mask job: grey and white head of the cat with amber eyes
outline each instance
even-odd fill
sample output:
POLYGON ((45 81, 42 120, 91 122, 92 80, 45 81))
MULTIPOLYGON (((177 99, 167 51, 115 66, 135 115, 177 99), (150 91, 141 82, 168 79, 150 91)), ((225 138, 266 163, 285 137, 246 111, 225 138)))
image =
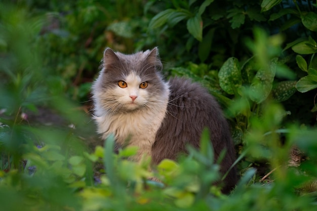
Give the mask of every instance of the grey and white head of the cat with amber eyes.
POLYGON ((131 55, 107 48, 102 70, 93 85, 97 110, 127 112, 151 108, 164 100, 168 86, 161 69, 157 48, 131 55))

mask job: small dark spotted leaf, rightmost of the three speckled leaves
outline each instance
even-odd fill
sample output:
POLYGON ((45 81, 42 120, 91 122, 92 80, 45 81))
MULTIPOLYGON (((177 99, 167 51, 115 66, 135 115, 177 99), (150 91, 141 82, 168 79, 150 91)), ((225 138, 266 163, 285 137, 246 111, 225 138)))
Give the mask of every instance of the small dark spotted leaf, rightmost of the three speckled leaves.
POLYGON ((272 89, 273 99, 277 102, 283 102, 289 99, 297 90, 295 88, 297 81, 281 81, 274 85, 272 89))

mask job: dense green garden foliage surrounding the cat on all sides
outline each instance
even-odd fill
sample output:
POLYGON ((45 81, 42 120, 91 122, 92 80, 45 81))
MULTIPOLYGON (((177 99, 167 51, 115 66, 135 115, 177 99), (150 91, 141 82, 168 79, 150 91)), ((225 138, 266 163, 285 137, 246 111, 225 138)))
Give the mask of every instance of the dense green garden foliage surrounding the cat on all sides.
POLYGON ((316 12, 309 0, 2 1, 0 210, 316 209, 316 12), (155 171, 95 134, 103 50, 155 46, 167 77, 222 105, 241 176, 231 194, 212 185, 207 132, 155 171))

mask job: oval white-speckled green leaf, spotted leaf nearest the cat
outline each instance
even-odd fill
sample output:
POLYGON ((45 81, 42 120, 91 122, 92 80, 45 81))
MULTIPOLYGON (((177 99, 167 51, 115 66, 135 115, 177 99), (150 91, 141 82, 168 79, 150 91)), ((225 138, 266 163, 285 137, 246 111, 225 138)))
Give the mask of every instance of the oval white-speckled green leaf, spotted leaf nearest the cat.
POLYGON ((218 77, 221 89, 230 95, 235 94, 242 85, 239 61, 234 57, 227 59, 220 68, 218 77))

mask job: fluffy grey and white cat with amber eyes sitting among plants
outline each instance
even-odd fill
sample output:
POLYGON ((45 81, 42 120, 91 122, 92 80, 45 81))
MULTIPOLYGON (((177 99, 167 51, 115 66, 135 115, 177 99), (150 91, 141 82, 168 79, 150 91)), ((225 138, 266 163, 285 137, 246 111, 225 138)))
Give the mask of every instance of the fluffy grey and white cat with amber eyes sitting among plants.
MULTIPOLYGON (((94 120, 97 132, 116 145, 137 146, 134 157, 150 155, 157 164, 165 158, 177 159, 190 144, 199 148, 203 129, 210 130, 215 159, 225 149, 220 163, 225 173, 235 160, 229 126, 219 104, 208 91, 189 79, 166 81, 157 48, 125 55, 110 48, 104 51, 101 71, 93 82, 94 120)), ((233 167, 223 192, 236 183, 233 167)))

